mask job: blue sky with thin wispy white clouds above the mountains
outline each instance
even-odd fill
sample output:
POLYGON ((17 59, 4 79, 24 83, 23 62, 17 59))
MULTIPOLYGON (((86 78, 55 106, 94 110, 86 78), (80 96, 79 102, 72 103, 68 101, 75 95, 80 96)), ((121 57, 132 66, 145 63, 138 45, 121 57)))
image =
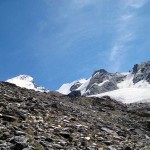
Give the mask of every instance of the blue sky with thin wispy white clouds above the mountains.
POLYGON ((0 80, 55 90, 150 60, 149 0, 0 0, 0 80))

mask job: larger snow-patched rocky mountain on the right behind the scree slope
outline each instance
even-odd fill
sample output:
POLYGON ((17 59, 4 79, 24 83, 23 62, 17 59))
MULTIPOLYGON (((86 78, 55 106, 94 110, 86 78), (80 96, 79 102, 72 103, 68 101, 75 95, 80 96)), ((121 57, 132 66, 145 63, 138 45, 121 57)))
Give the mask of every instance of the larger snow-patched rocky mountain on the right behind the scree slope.
POLYGON ((108 95, 125 103, 142 100, 150 102, 150 61, 134 65, 132 71, 127 73, 97 70, 91 78, 84 79, 84 82, 77 80, 62 85, 58 92, 69 94, 74 90, 81 91, 81 94, 85 96, 108 95))

